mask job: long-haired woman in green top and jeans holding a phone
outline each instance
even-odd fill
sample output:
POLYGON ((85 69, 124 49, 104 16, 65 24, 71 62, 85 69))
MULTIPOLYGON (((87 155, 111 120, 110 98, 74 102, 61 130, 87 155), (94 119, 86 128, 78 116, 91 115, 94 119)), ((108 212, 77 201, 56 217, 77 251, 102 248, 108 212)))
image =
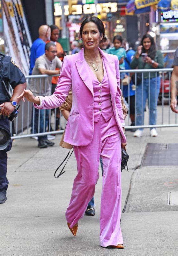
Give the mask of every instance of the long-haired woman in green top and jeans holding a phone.
MULTIPOLYGON (((154 39, 149 34, 143 36, 140 45, 137 48, 132 62, 131 69, 157 69, 163 68, 164 61, 162 53, 156 49, 154 39)), ((157 102, 160 90, 160 77, 158 72, 144 72, 142 81, 137 84, 137 101, 136 101, 136 125, 144 125, 144 111, 146 100, 149 102, 149 124, 155 125, 157 118, 157 102), (149 88, 150 85, 150 88, 149 88)), ((151 128, 150 136, 156 137, 158 135, 155 128, 151 128)), ((134 132, 134 137, 143 136, 143 128, 137 129, 134 132)))

